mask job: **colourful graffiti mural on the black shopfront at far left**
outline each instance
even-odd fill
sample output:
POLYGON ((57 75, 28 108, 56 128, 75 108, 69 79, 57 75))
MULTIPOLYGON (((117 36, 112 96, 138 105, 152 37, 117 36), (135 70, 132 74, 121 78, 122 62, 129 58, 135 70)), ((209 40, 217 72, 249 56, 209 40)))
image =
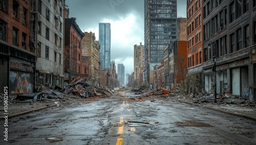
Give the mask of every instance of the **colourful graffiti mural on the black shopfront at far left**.
POLYGON ((33 74, 29 72, 10 70, 10 92, 33 92, 33 74))

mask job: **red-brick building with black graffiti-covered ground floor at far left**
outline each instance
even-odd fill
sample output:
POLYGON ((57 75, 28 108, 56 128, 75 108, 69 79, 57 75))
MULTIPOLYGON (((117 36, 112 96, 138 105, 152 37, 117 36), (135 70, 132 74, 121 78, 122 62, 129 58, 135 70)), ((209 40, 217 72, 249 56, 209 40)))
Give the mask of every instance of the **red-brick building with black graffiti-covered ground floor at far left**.
POLYGON ((0 93, 31 93, 35 88, 36 54, 30 37, 30 1, 1 1, 0 93))

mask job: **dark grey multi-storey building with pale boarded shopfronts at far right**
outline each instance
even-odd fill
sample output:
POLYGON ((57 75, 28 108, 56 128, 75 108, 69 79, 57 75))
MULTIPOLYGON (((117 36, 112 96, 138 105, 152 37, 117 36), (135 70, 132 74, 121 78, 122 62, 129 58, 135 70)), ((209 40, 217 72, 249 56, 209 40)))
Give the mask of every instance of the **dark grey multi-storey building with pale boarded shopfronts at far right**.
POLYGON ((255 99, 255 3, 238 0, 203 2, 203 73, 206 92, 211 92, 216 84, 217 94, 228 92, 244 99, 255 99))

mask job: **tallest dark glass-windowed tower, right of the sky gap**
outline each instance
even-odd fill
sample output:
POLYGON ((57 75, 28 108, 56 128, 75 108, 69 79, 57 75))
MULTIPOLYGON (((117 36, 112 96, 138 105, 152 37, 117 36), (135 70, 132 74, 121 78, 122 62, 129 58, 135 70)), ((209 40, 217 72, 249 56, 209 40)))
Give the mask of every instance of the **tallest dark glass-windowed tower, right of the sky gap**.
POLYGON ((153 69, 163 59, 164 46, 176 39, 177 0, 144 0, 144 81, 153 84, 153 69))

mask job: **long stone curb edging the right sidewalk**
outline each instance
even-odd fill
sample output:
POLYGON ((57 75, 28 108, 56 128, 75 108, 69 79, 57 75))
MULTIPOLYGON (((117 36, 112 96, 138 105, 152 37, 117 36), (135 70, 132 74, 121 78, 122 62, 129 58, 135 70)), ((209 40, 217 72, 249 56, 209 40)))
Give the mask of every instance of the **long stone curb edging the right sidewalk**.
POLYGON ((208 109, 212 109, 212 110, 215 110, 215 111, 223 112, 223 113, 226 113, 226 114, 230 114, 230 115, 234 115, 234 116, 239 116, 239 117, 244 117, 246 119, 250 119, 250 120, 256 121, 255 117, 251 117, 251 116, 247 116, 247 115, 242 115, 242 114, 237 114, 237 113, 232 113, 232 112, 228 112, 228 111, 224 111, 224 110, 216 109, 216 108, 212 108, 212 107, 202 106, 202 105, 199 105, 199 104, 195 104, 195 103, 191 103, 191 102, 186 102, 186 101, 181 101, 181 100, 178 100, 178 99, 174 99, 174 100, 182 102, 182 103, 186 103, 186 104, 190 104, 190 105, 196 105, 196 106, 199 106, 199 107, 208 108, 208 109))

